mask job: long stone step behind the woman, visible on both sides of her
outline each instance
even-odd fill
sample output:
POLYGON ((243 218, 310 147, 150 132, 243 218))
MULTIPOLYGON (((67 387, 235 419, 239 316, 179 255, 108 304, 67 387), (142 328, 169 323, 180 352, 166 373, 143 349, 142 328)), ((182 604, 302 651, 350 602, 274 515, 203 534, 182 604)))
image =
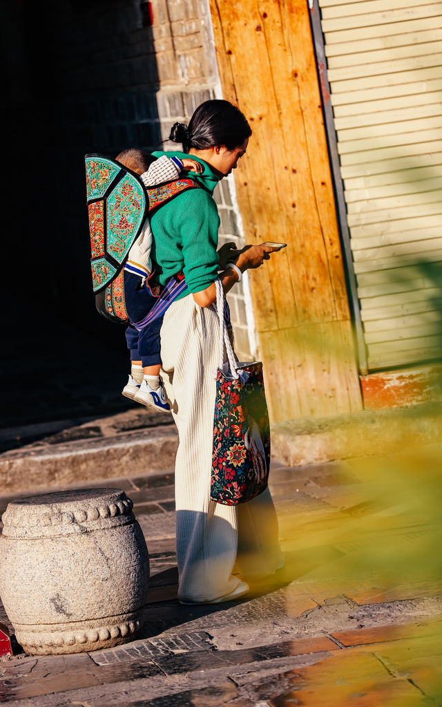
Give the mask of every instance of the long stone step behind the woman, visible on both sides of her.
MULTIPOLYGON (((442 404, 362 411, 272 426, 272 457, 289 467, 400 452, 442 441, 442 404)), ((167 414, 129 410, 0 454, 1 493, 158 474, 174 467, 167 414)))

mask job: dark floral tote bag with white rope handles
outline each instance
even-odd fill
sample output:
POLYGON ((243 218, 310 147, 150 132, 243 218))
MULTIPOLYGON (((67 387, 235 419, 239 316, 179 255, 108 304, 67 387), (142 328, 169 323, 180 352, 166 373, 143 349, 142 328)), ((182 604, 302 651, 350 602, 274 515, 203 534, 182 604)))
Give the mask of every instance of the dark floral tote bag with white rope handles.
POLYGON ((220 320, 220 366, 217 369, 213 419, 210 497, 234 506, 262 493, 268 484, 270 425, 261 362, 239 363, 224 317, 224 293, 216 281, 220 320), (228 363, 224 361, 227 351, 228 363))

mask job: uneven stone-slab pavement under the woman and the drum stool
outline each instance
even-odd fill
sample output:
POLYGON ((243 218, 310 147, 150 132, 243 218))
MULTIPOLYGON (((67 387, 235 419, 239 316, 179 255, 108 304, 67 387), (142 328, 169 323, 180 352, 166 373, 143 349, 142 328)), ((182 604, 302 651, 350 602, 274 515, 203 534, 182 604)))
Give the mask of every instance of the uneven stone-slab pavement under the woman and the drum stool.
MULTIPOLYGON (((419 451, 427 481, 440 479, 440 451, 419 451)), ((177 602, 173 472, 78 484, 119 486, 134 502, 151 559, 145 627, 132 643, 91 653, 33 657, 18 648, 0 662, 0 702, 440 706, 441 489, 429 482, 434 512, 425 493, 425 512, 410 501, 412 481, 411 494, 397 489, 395 474, 407 479, 411 470, 412 479, 413 461, 407 452, 297 468, 274 462, 285 568, 250 597, 217 606, 177 602), (386 484, 379 494, 372 472, 375 481, 389 472, 395 493, 386 484)))

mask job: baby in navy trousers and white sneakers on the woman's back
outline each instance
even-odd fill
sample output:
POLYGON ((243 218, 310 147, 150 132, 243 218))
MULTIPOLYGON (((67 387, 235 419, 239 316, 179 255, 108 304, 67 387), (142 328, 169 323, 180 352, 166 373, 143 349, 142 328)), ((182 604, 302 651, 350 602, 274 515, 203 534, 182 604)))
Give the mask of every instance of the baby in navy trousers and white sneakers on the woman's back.
MULTIPOLYGON (((145 187, 176 180, 182 170, 200 173, 203 165, 196 160, 179 160, 162 156, 155 160, 149 153, 135 148, 117 155, 117 161, 141 175, 145 187)), ((124 296, 126 310, 131 322, 139 322, 153 308, 158 297, 153 295, 149 279, 153 275, 150 261, 152 231, 149 219, 145 218, 140 235, 129 250, 124 266, 124 296)), ((155 293, 157 295, 157 293, 155 293)), ((160 380, 160 329, 162 317, 138 332, 129 324, 126 341, 131 352, 131 373, 123 388, 123 395, 156 410, 167 411, 169 404, 160 380)))

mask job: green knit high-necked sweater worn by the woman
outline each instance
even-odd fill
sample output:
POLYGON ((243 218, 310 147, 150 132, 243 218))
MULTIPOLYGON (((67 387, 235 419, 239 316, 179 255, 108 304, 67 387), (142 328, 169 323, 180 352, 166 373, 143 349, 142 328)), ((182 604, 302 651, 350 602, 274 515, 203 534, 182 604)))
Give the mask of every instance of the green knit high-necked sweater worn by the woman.
MULTIPOLYGON (((162 155, 189 158, 184 152, 153 153, 154 157, 162 155)), ((201 162, 204 170, 200 175, 189 172, 187 176, 200 182, 210 193, 205 189, 182 192, 158 209, 150 219, 155 262, 153 279, 165 285, 169 277, 182 270, 189 289, 178 299, 212 284, 217 278, 219 264, 216 251, 220 217, 212 192, 220 177, 203 160, 194 156, 191 158, 201 162)))

